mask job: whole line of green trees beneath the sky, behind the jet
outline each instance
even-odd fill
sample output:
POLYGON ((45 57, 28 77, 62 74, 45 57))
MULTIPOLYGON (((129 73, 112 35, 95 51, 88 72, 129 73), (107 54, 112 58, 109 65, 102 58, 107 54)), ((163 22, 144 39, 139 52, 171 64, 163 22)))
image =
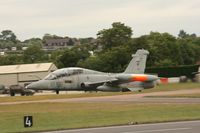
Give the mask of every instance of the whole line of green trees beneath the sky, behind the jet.
POLYGON ((180 30, 178 36, 169 33, 150 32, 140 37, 132 37, 131 27, 121 22, 114 22, 111 28, 98 31, 97 38, 80 39, 81 44, 72 49, 42 50, 42 39, 32 38, 21 42, 12 31, 2 31, 0 47, 5 44, 22 47, 28 46, 22 54, 9 54, 0 57, 0 65, 54 62, 58 68, 84 67, 105 72, 122 72, 131 55, 137 49, 147 49, 150 52, 148 67, 193 65, 200 61, 200 37, 180 30), (92 55, 91 55, 92 51, 92 55))

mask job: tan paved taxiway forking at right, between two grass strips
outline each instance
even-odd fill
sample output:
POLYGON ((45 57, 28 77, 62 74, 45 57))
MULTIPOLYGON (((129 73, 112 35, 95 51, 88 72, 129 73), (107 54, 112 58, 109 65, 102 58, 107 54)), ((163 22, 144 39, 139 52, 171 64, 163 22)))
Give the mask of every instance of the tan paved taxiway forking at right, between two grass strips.
POLYGON ((195 94, 200 93, 200 89, 192 90, 176 90, 166 92, 151 92, 141 94, 124 94, 115 96, 101 96, 101 97, 83 97, 83 98, 64 98, 64 99, 47 99, 34 101, 16 101, 16 102, 2 102, 0 105, 13 105, 24 103, 59 103, 59 102, 133 102, 133 103, 180 103, 192 104, 200 103, 200 98, 161 98, 151 96, 172 96, 174 94, 195 94), (148 96, 148 97, 147 97, 148 96))

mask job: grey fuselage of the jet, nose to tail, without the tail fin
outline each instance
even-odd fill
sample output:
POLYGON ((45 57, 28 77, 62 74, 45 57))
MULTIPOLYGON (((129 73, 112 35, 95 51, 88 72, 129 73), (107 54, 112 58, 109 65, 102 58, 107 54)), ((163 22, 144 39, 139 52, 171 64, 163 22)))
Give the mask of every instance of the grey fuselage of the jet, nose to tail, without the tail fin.
POLYGON ((134 74, 104 73, 84 68, 71 67, 58 69, 50 73, 43 80, 33 82, 27 86, 32 90, 55 91, 123 91, 128 89, 126 85, 138 88, 152 88, 153 81, 157 79, 153 75, 136 74, 135 76, 147 76, 146 81, 134 81, 134 74), (132 82, 132 83, 130 83, 132 82))

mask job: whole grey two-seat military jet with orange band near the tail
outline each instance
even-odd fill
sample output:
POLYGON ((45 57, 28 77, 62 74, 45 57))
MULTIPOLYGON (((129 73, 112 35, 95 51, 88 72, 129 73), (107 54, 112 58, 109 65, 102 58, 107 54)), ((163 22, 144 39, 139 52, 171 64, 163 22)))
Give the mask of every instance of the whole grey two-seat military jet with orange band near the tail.
POLYGON ((59 91, 134 91, 152 88, 158 79, 144 74, 149 52, 137 50, 123 73, 104 73, 79 67, 58 69, 44 79, 26 86, 32 90, 59 91))

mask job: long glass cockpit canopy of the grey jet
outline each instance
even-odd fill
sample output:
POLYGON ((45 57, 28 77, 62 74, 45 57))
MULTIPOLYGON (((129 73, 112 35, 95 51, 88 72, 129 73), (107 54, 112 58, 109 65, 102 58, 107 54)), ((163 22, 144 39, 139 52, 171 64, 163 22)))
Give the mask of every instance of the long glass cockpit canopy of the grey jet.
POLYGON ((83 73, 83 69, 81 68, 63 68, 63 69, 58 69, 49 75, 47 75, 44 79, 45 80, 54 80, 60 77, 67 77, 71 75, 76 75, 76 74, 81 74, 83 73))

